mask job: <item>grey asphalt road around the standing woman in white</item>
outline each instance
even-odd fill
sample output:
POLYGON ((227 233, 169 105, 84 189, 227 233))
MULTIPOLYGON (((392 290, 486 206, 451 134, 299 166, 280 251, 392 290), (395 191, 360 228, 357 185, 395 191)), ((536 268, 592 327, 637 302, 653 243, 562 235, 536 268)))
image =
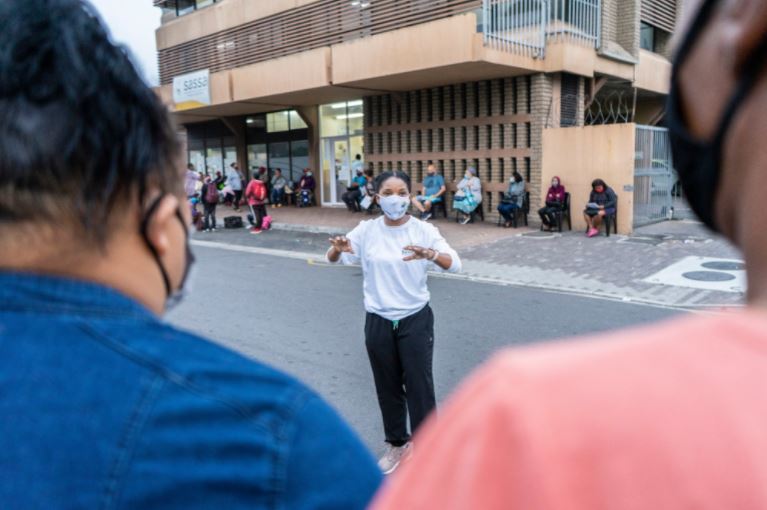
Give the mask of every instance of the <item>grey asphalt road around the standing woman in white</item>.
MULTIPOLYGON (((316 243, 313 249, 295 248, 314 252, 319 239, 316 243)), ((169 320, 295 375, 323 395, 378 453, 383 427, 364 347, 361 270, 215 248, 196 247, 195 253, 199 267, 193 293, 169 320)), ((504 347, 678 313, 443 278, 430 279, 429 286, 440 401, 504 347)))

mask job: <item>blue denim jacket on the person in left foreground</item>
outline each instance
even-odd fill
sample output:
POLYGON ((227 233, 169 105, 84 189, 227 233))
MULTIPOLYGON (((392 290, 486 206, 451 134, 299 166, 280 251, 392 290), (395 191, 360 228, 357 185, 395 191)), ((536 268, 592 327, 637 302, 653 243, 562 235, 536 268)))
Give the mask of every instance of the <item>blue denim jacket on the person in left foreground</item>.
POLYGON ((363 508, 380 481, 290 377, 108 288, 0 272, 0 507, 363 508))

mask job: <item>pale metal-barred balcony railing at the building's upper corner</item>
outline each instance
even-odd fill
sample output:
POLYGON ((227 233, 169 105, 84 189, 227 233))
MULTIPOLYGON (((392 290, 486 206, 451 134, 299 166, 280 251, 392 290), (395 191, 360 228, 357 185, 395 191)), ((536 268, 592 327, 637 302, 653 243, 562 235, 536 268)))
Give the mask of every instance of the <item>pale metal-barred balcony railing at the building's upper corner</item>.
POLYGON ((601 0, 483 0, 485 44, 536 58, 551 40, 599 48, 601 0))

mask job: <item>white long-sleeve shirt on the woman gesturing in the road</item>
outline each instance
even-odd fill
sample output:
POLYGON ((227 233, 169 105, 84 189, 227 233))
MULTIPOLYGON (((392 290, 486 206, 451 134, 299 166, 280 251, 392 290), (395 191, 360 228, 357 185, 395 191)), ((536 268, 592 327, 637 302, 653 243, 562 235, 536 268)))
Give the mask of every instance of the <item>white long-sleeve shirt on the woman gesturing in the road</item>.
POLYGON ((390 227, 381 216, 361 222, 347 236, 354 253, 343 253, 343 264, 360 264, 364 278, 365 310, 390 321, 402 320, 421 311, 431 299, 426 285, 429 270, 443 271, 434 262, 405 262, 406 246, 420 246, 450 255, 450 273, 461 270, 461 259, 430 223, 410 218, 390 227))

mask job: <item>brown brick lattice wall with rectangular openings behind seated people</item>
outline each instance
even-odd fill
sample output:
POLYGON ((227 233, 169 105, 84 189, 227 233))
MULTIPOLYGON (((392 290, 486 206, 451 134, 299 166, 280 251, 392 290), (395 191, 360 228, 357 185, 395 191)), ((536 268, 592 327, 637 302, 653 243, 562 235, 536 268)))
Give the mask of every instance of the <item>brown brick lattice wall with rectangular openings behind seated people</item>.
POLYGON ((365 159, 376 174, 409 173, 415 190, 434 163, 448 183, 448 204, 454 181, 474 166, 485 213, 494 219, 514 170, 529 179, 531 202, 538 203, 542 130, 550 103, 551 79, 543 74, 368 97, 365 159))

